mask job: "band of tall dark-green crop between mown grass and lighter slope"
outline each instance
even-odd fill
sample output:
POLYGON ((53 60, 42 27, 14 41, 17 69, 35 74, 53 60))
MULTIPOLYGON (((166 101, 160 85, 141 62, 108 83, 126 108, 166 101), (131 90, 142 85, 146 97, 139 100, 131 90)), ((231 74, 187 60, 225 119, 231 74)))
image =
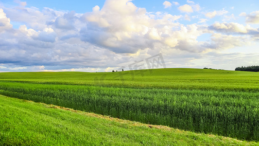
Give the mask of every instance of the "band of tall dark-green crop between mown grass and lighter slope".
POLYGON ((0 82, 0 94, 196 132, 259 141, 259 93, 0 82))

